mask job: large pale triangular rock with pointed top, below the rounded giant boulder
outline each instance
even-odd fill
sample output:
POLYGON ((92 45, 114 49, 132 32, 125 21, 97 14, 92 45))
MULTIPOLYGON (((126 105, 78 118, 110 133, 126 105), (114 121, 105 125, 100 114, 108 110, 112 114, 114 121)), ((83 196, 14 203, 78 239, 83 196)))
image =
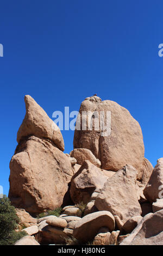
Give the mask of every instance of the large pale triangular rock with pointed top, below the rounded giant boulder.
MULTIPOLYGON (((141 215, 135 182, 136 170, 127 164, 105 182, 102 192, 95 200, 95 206, 99 211, 110 211, 112 215, 118 216, 122 225, 129 218, 141 215)), ((121 229, 121 224, 118 229, 121 229)))

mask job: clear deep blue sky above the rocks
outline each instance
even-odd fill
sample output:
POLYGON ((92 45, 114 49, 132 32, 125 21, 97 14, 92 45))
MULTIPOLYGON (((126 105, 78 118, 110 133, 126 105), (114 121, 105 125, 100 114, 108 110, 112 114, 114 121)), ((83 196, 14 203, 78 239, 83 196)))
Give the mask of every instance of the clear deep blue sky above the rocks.
MULTIPOLYGON (((163 2, 151 0, 1 1, 1 178, 9 190, 9 161, 29 94, 49 117, 79 110, 97 93, 139 121, 145 156, 163 156, 163 2)), ((65 153, 73 131, 63 131, 65 153)))

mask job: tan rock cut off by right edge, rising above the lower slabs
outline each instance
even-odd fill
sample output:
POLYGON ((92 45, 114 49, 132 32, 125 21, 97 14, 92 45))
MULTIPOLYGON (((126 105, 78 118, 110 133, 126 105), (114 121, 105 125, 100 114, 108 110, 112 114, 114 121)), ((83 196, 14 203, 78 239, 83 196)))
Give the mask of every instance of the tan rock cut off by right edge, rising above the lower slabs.
POLYGON ((163 198, 163 157, 158 160, 154 167, 143 193, 151 203, 156 202, 156 199, 163 198))

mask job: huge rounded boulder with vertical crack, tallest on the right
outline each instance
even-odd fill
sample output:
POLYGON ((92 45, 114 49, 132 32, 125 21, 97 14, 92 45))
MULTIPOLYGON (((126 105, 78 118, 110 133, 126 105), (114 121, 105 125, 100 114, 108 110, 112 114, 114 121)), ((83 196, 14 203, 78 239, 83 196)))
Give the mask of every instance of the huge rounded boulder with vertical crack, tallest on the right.
POLYGON ((137 178, 142 179, 145 149, 141 127, 126 108, 114 101, 101 101, 99 97, 92 96, 82 102, 73 145, 74 149, 90 149, 101 161, 103 169, 117 171, 128 163, 137 169, 137 178), (101 127, 100 116, 101 120, 105 119, 101 127), (82 120, 86 129, 82 127, 82 120), (92 130, 88 126, 89 120, 92 122, 92 130))

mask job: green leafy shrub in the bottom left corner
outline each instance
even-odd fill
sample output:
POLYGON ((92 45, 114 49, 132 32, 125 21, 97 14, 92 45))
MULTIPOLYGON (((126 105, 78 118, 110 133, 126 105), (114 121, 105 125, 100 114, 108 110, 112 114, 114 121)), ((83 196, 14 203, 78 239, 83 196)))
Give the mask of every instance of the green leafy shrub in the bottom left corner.
POLYGON ((9 198, 0 198, 0 245, 14 245, 18 239, 27 235, 25 231, 15 231, 19 221, 9 198))

